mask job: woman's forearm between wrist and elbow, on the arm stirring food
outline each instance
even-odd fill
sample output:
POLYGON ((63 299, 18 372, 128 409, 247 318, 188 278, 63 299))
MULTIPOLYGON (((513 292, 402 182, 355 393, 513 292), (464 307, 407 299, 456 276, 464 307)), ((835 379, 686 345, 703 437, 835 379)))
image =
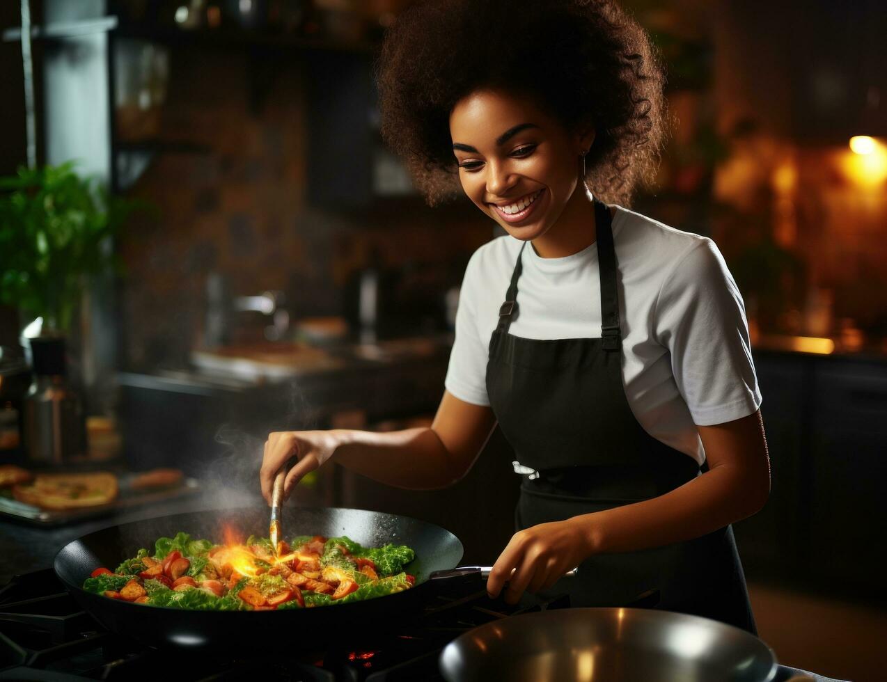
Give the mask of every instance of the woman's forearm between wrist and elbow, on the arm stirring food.
POLYGON ((336 429, 331 435, 337 443, 335 462, 398 488, 445 488, 465 473, 428 427, 387 433, 336 429))

